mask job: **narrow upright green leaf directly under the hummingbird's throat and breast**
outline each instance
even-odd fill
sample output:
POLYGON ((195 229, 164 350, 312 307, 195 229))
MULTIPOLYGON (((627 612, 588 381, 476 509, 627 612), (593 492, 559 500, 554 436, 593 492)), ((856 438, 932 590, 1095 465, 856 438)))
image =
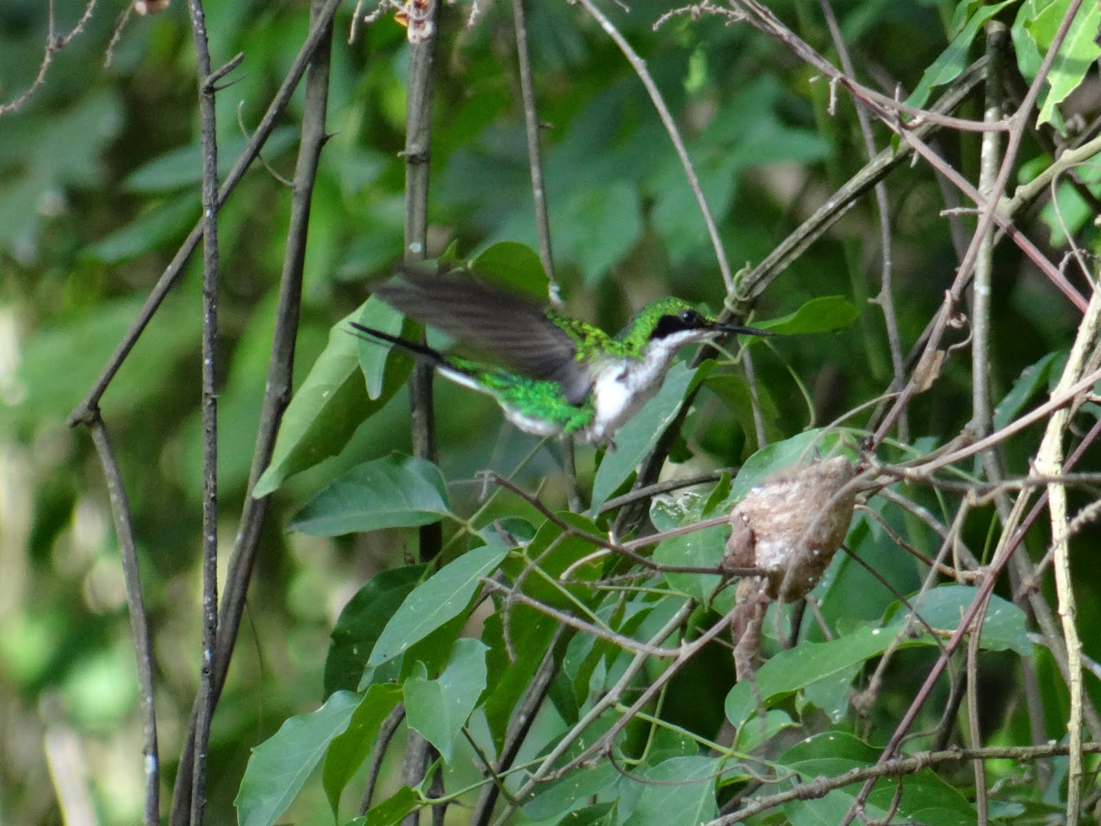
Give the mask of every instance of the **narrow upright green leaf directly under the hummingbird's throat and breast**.
MULTIPOLYGON (((592 509, 596 511, 626 479, 657 444, 662 433, 676 416, 695 372, 676 363, 665 377, 657 395, 615 435, 615 449, 604 454, 592 482, 592 509)), ((702 378, 702 377, 700 377, 702 378)))

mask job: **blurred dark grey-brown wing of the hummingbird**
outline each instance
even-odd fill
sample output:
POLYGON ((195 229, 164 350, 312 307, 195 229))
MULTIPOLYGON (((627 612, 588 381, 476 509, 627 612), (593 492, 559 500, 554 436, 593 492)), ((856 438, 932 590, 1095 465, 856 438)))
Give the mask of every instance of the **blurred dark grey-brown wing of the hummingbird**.
POLYGON ((395 309, 532 379, 557 381, 571 404, 592 387, 577 347, 543 307, 469 278, 404 269, 374 290, 395 309))

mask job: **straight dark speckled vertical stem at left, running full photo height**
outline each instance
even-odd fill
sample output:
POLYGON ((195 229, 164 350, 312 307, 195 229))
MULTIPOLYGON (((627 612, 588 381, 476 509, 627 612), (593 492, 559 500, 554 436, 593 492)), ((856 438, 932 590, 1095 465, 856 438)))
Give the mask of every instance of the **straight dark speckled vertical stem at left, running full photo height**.
POLYGON ((215 393, 215 344, 218 337, 218 135, 215 91, 210 84, 203 0, 189 0, 192 36, 198 74, 199 137, 203 152, 203 665, 196 698, 195 756, 192 768, 192 826, 203 822, 206 760, 214 688, 214 651, 218 637, 218 398, 215 393))

